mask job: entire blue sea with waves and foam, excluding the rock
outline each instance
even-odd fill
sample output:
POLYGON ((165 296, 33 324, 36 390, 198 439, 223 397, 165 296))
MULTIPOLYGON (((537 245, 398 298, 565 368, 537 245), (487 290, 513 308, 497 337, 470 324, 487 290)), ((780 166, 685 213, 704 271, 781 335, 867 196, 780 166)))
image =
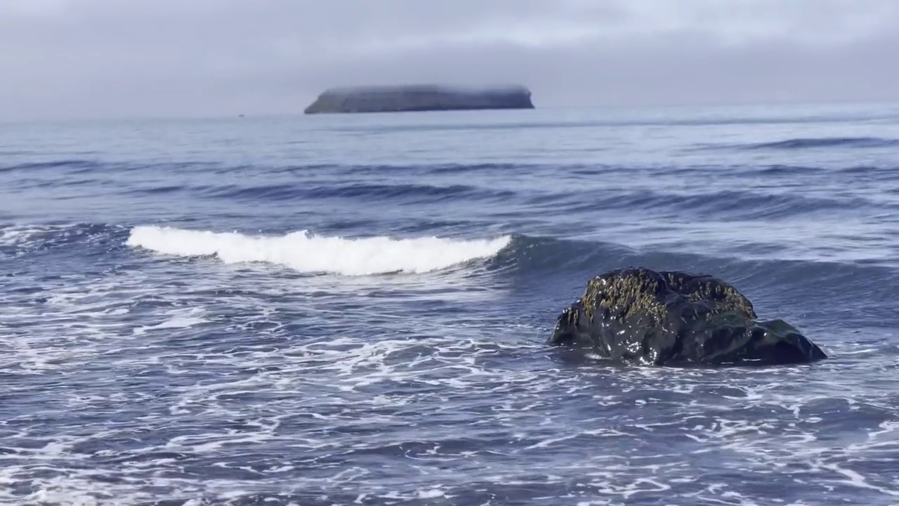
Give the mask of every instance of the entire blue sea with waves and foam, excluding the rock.
POLYGON ((9 123, 0 195, 0 501, 899 502, 899 106, 9 123), (830 358, 544 346, 636 265, 830 358))

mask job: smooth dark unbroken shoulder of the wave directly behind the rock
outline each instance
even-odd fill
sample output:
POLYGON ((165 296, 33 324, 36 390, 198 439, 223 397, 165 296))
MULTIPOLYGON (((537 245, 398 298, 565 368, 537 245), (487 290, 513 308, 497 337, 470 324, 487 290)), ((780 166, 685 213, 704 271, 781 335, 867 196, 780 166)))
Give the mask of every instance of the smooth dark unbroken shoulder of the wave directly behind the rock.
MULTIPOLYGON (((839 317, 877 327, 893 318, 899 267, 789 258, 740 258, 677 250, 628 248, 600 241, 514 236, 488 264, 515 285, 552 287, 573 299, 592 276, 621 267, 650 267, 718 276, 769 311, 839 317), (809 301, 816 301, 809 305, 809 301)), ((530 288, 529 288, 530 289, 530 288)))

